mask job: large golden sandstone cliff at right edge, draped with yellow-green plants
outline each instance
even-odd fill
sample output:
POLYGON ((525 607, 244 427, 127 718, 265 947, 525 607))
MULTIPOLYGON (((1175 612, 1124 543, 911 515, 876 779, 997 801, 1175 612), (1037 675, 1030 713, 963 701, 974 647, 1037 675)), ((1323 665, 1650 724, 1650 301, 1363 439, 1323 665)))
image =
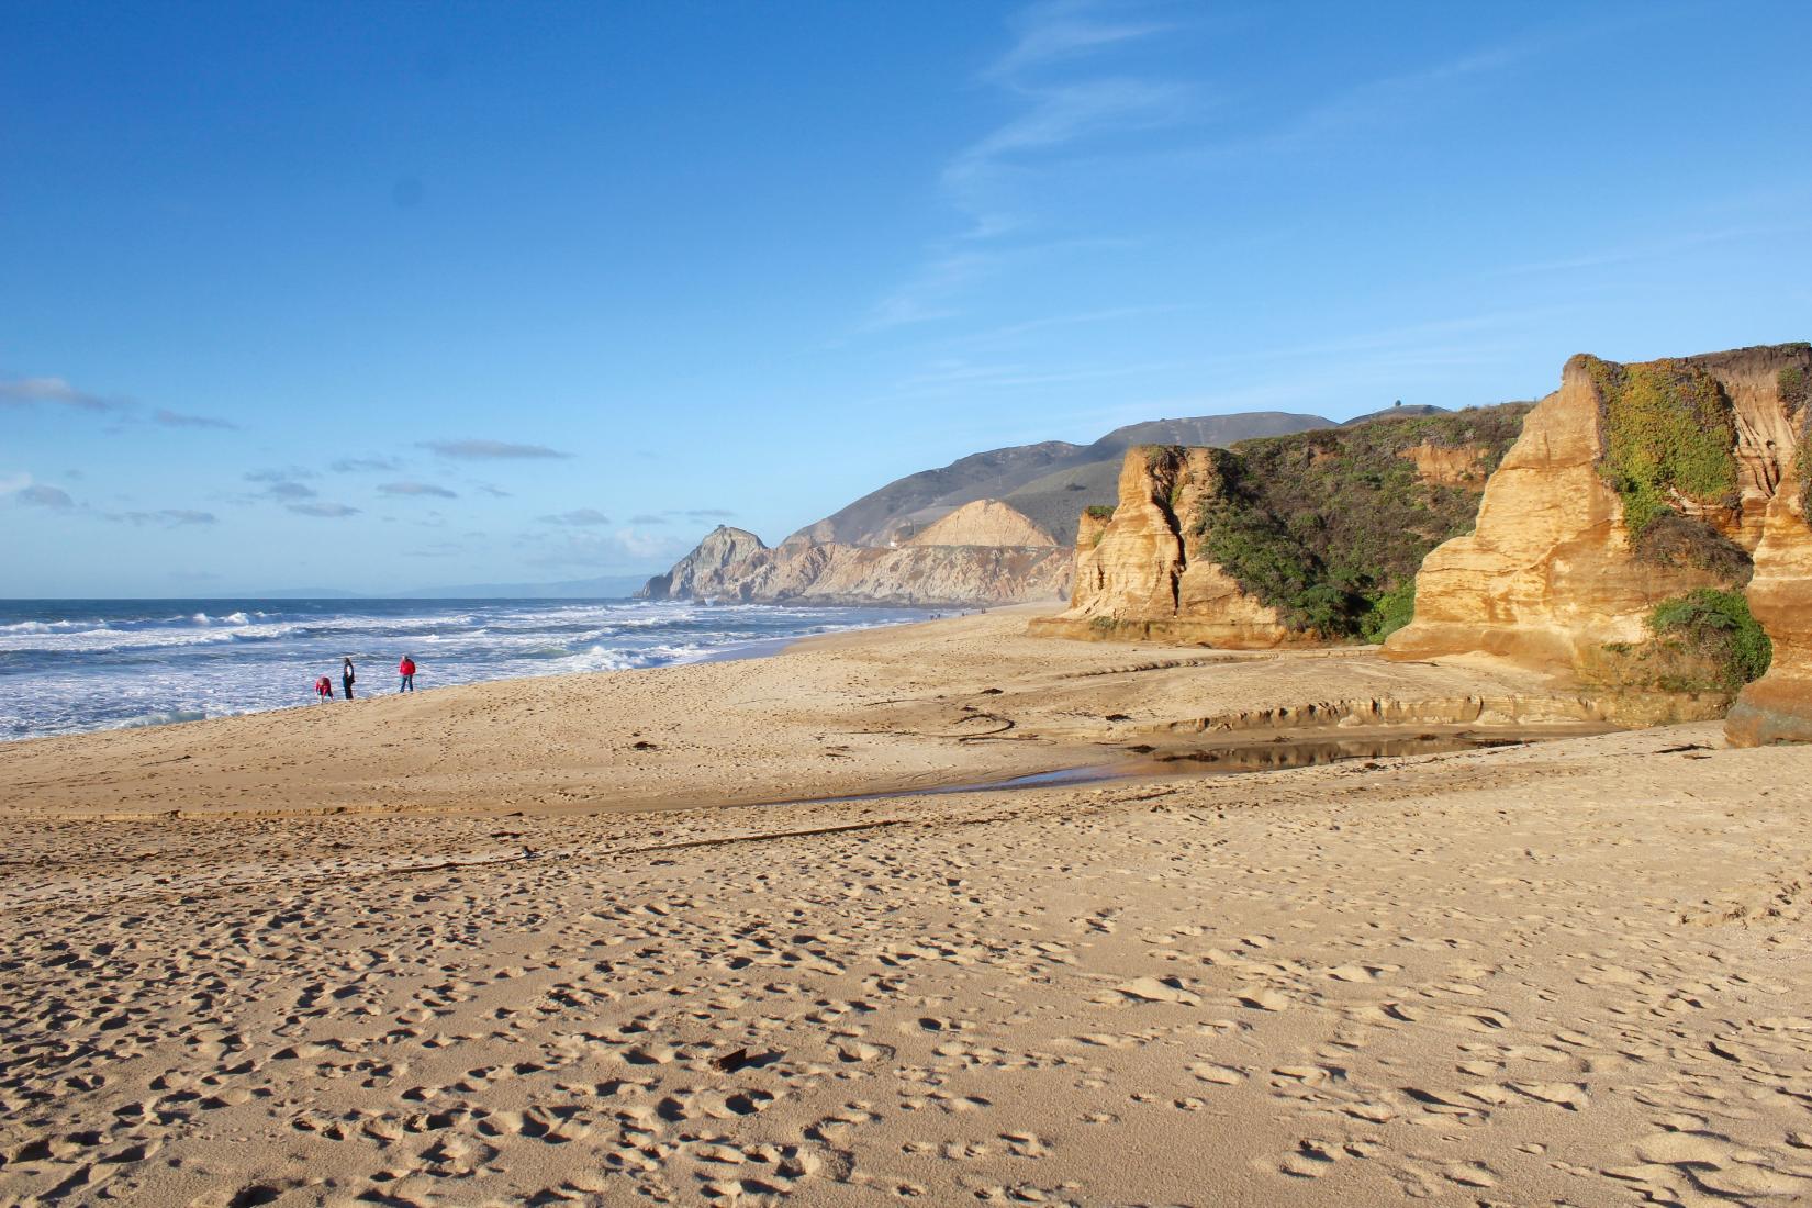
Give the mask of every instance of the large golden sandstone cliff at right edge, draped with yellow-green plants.
MULTIPOLYGON (((1805 344, 1569 360, 1491 475, 1475 531, 1424 560, 1415 619, 1386 652, 1482 652, 1589 679, 1607 652, 1651 638, 1656 605, 1741 589, 1770 525, 1783 536, 1769 578, 1783 587, 1763 594, 1792 594, 1799 542, 1770 513, 1796 433, 1781 373, 1807 360, 1805 344)), ((1763 625, 1772 636, 1781 621, 1763 625)))

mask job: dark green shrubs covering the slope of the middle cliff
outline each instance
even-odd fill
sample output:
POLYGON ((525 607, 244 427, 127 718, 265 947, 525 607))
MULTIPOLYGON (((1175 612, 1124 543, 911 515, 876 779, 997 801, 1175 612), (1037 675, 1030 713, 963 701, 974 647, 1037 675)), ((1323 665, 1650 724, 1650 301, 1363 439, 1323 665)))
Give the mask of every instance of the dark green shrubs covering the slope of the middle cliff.
POLYGON ((1294 628, 1379 641, 1408 623, 1428 551, 1471 531, 1484 480, 1529 406, 1381 418, 1216 449, 1219 489, 1189 518, 1194 552, 1294 628), (1446 462, 1446 473, 1424 473, 1419 449, 1446 462))

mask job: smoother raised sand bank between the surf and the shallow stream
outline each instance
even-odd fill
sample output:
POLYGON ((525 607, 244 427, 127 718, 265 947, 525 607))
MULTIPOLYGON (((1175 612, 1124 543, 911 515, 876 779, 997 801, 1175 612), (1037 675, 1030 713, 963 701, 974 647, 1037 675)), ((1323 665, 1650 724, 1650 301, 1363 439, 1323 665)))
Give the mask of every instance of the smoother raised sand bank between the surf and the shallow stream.
POLYGON ((1216 728, 1316 737, 1368 724, 1566 724, 1582 708, 1528 674, 1397 666, 1364 648, 1026 636, 1026 621, 1051 610, 1015 605, 815 634, 750 657, 386 694, 352 710, 24 739, 0 744, 0 819, 841 801, 1136 762, 1200 746, 1216 728), (1330 701, 1343 697, 1379 715, 1335 717, 1330 701))

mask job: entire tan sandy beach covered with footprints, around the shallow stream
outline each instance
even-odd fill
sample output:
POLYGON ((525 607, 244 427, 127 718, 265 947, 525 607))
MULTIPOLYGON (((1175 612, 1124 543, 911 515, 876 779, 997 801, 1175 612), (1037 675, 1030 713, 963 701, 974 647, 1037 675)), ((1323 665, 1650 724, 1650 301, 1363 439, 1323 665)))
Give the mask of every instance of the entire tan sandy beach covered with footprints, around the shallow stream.
POLYGON ((0 746, 0 1201, 1812 1199, 1812 750, 1026 621, 0 746))

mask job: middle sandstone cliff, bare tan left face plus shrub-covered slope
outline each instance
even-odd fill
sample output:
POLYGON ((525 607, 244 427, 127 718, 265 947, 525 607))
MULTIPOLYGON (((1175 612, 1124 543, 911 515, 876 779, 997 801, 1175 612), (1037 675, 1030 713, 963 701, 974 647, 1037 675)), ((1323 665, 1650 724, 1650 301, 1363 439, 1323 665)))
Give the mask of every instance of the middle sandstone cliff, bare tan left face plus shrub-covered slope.
POLYGON ((1526 411, 1132 449, 1113 513, 1082 516, 1069 610, 1033 632, 1232 648, 1375 634, 1422 556, 1471 523, 1526 411))

